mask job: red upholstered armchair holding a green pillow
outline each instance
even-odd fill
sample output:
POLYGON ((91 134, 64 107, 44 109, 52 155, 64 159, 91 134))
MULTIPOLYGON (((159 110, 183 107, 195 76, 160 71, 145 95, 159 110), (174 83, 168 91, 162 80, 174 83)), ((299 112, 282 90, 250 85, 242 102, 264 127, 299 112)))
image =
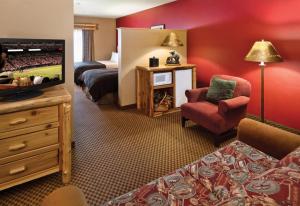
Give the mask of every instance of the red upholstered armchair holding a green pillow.
POLYGON ((228 75, 215 75, 225 80, 236 81, 233 98, 221 100, 218 104, 206 101, 208 87, 187 90, 188 103, 181 105, 181 121, 185 127, 191 120, 215 134, 214 145, 219 146, 223 134, 235 128, 246 116, 250 100, 251 85, 242 78, 228 75))

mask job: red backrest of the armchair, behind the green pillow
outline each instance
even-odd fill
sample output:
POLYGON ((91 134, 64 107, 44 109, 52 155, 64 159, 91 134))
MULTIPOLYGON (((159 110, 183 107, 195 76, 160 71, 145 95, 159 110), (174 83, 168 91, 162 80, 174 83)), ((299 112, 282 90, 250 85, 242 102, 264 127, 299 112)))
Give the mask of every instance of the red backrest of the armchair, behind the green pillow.
POLYGON ((224 80, 236 81, 236 87, 235 87, 235 90, 233 93, 233 97, 238 97, 238 96, 250 97, 251 84, 247 80, 242 79, 240 77, 234 77, 234 76, 229 76, 229 75, 214 75, 211 78, 211 83, 215 77, 218 77, 218 78, 224 79, 224 80))

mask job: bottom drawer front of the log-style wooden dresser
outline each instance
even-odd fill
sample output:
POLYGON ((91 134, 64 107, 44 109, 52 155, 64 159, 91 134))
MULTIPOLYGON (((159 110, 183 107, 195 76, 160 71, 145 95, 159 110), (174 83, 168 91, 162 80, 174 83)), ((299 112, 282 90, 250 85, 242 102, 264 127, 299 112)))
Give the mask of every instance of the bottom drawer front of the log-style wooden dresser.
POLYGON ((58 151, 0 165, 0 184, 58 165, 58 151))

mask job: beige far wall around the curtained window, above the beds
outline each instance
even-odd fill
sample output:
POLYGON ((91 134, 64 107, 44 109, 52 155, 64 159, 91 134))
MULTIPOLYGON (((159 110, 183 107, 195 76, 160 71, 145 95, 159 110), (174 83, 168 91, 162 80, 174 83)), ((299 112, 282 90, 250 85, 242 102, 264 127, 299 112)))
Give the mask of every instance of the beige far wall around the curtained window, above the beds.
POLYGON ((95 31, 95 60, 107 60, 116 50, 116 20, 95 17, 75 16, 75 23, 98 24, 95 31))

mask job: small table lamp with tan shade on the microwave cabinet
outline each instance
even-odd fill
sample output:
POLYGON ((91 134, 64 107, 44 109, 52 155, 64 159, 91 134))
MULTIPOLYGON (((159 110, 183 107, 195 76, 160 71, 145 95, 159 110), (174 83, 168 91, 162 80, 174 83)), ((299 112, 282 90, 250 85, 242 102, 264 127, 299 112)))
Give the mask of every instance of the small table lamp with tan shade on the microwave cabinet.
MULTIPOLYGON (((174 32, 171 32, 163 41, 161 46, 165 47, 179 47, 183 46, 183 43, 178 38, 177 34, 174 32)), ((171 56, 167 58, 166 65, 180 65, 180 57, 176 53, 176 51, 170 51, 171 56)))

